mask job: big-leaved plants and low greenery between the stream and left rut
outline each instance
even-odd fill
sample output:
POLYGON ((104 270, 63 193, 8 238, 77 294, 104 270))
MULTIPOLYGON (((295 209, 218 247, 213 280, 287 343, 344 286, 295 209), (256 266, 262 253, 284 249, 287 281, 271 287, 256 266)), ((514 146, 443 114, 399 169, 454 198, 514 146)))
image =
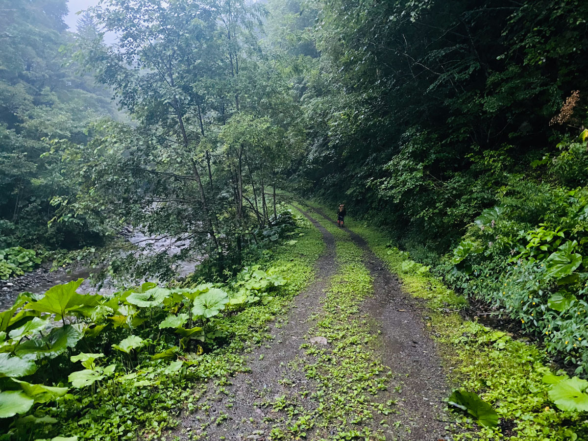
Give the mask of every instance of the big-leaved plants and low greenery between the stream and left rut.
POLYGON ((2 439, 159 437, 208 379, 246 370, 243 350, 313 276, 320 234, 296 239, 227 283, 147 282, 105 298, 81 280, 26 293, 1 313, 2 439))

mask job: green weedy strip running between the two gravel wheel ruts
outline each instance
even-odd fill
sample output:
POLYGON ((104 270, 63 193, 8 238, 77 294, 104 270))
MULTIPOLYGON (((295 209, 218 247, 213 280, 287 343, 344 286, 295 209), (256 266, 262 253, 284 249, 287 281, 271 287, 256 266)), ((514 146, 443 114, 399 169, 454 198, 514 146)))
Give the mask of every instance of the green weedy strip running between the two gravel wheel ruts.
MULTIPOLYGON (((294 390, 266 405, 281 410, 273 423, 271 439, 383 440, 386 416, 395 412, 392 400, 382 393, 392 375, 377 358, 370 342, 360 303, 372 293, 372 279, 362 264, 362 250, 348 233, 330 223, 319 222, 336 240, 338 272, 315 316, 309 338, 322 337, 327 344, 304 343, 306 362, 295 360, 292 369, 301 369, 313 380, 314 390, 294 390), (313 406, 303 406, 309 396, 313 406), (308 409, 310 407, 310 409, 308 409), (312 433, 312 436, 310 435, 312 433)), ((286 374, 287 376, 287 374, 286 374)), ((288 383, 288 378, 282 380, 288 383)))

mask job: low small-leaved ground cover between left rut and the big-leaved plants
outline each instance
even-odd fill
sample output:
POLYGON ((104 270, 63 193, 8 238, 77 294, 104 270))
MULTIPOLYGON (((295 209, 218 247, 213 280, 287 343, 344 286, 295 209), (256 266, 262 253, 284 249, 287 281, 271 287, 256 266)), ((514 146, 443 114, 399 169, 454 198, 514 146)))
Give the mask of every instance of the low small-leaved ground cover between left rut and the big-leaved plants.
MULTIPOLYGON (((258 302, 211 319, 223 337, 208 351, 193 354, 195 363, 180 363, 179 370, 171 370, 166 360, 143 356, 136 368, 125 368, 116 363, 116 351, 111 352, 105 358, 116 365, 113 379, 81 392, 70 389, 65 399, 37 406, 34 415, 16 421, 16 432, 0 435, 0 439, 46 438, 57 431, 80 441, 165 439, 171 435, 163 435, 163 431, 176 425, 180 410, 202 413, 205 430, 216 422, 208 416, 208 405, 199 401, 206 383, 215 380, 217 387, 222 387, 228 376, 248 370, 243 353, 270 338, 268 322, 283 314, 293 297, 315 276, 313 266, 325 246, 320 232, 308 220, 299 219, 292 235, 296 240, 273 246, 265 250, 262 259, 249 262, 263 268, 273 267, 287 283, 272 291, 273 298, 266 305, 258 302), (208 421, 204 421, 207 416, 208 421)), ((153 345, 158 349, 165 349, 165 344, 163 339, 153 337, 153 345)))

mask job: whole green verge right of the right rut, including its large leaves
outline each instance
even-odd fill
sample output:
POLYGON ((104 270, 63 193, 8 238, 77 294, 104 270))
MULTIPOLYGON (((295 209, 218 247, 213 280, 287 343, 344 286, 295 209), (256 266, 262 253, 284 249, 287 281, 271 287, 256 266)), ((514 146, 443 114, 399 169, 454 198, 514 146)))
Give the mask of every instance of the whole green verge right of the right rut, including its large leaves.
POLYGON ((463 394, 447 397, 456 410, 453 439, 564 441, 588 436, 586 380, 570 378, 528 339, 463 319, 467 300, 429 266, 396 248, 389 236, 351 219, 348 228, 399 276, 403 289, 425 302, 426 326, 439 342, 455 391, 463 394))

